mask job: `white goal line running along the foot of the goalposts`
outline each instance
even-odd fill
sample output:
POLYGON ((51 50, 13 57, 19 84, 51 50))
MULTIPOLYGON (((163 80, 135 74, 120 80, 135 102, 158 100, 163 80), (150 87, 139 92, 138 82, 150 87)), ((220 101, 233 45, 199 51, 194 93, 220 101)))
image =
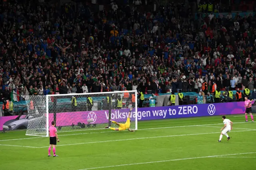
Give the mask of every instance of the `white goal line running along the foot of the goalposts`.
MULTIPOLYGON (((246 122, 235 122, 235 123, 246 123, 246 122)), ((223 123, 215 123, 215 124, 205 124, 205 125, 223 125, 223 123)), ((204 125, 187 125, 187 126, 176 126, 176 127, 159 127, 159 128, 142 128, 138 130, 152 130, 152 129, 163 129, 163 128, 178 128, 178 127, 197 127, 204 125)), ((62 134, 58 136, 71 136, 71 135, 79 135, 79 134, 94 134, 94 133, 109 133, 109 132, 118 132, 118 131, 104 131, 104 132, 86 132, 86 133, 74 133, 74 134, 62 134)), ((23 139, 34 139, 34 138, 45 138, 45 137, 32 137, 32 138, 18 138, 18 139, 5 139, 1 141, 9 141, 9 140, 23 140, 23 139)))

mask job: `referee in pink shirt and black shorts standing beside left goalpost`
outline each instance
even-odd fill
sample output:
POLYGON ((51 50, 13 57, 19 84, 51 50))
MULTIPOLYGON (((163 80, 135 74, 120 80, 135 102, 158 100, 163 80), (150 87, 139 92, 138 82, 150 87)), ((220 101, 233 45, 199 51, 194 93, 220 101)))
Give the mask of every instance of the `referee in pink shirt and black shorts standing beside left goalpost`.
POLYGON ((57 129, 55 127, 55 122, 52 121, 52 126, 49 127, 49 132, 50 132, 50 146, 48 148, 48 156, 52 156, 51 155, 51 149, 52 149, 52 152, 53 152, 53 156, 56 157, 58 155, 56 155, 56 144, 57 144, 57 141, 60 142, 60 140, 58 139, 58 134, 57 134, 57 129), (52 148, 53 146, 53 148, 52 148))

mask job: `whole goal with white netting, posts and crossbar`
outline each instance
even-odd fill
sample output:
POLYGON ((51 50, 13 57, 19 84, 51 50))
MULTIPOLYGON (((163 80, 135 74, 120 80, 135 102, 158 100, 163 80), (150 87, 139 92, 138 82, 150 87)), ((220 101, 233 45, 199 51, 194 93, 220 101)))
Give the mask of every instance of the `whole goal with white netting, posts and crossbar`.
POLYGON ((130 129, 137 130, 137 91, 25 96, 28 108, 26 135, 49 136, 51 122, 58 132, 99 130, 125 123, 130 108, 130 129))

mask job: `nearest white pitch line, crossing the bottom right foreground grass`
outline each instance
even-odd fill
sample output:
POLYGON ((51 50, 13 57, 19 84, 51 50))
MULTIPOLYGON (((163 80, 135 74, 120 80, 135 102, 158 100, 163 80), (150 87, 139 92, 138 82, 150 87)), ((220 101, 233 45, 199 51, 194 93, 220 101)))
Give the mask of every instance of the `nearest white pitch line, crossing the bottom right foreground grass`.
POLYGON ((202 156, 202 157, 194 157, 194 158, 160 160, 160 161, 141 162, 141 163, 134 163, 134 164, 122 164, 122 165, 112 165, 112 166, 101 166, 101 167, 86 168, 86 169, 80 169, 80 170, 92 170, 92 169, 101 169, 101 168, 113 168, 113 167, 118 167, 118 166, 130 166, 130 165, 140 165, 140 164, 152 164, 152 163, 159 163, 159 162, 171 162, 171 161, 177 161, 177 160, 188 160, 188 159, 199 159, 199 158, 218 158, 217 156, 229 156, 229 155, 240 155, 240 154, 255 154, 255 153, 256 153, 256 152, 248 152, 248 153, 239 153, 239 154, 225 154, 225 155, 202 156))

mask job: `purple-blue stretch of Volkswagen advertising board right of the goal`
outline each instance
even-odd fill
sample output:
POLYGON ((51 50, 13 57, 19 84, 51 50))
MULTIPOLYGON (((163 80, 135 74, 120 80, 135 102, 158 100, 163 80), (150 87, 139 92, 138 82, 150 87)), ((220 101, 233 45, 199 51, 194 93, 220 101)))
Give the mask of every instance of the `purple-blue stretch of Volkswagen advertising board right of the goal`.
POLYGON ((156 119, 234 115, 244 112, 244 102, 149 107, 138 109, 138 120, 147 121, 156 119))

